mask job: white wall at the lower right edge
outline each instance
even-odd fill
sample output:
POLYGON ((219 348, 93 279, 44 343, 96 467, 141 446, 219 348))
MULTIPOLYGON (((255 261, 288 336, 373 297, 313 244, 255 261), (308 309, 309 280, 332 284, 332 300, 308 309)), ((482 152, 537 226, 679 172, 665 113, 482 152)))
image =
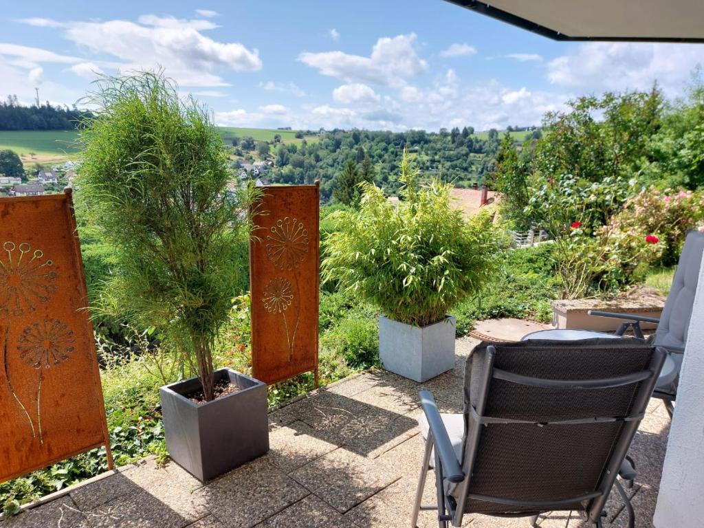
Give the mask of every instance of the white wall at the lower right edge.
POLYGON ((653 523, 657 528, 700 528, 704 526, 704 261, 676 407, 653 523))

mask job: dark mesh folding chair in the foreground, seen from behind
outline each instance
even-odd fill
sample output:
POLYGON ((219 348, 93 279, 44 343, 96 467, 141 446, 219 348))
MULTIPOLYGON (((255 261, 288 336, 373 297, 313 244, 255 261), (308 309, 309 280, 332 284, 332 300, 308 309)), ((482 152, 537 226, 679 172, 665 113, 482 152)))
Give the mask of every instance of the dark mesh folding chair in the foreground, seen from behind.
POLYGON ((634 479, 624 463, 665 360, 642 339, 482 343, 465 369, 463 415, 441 415, 421 391, 426 439, 411 525, 436 509, 440 528, 465 513, 532 517, 576 510, 601 528, 613 486, 634 479), (433 461, 431 462, 431 459, 433 461), (430 468, 436 505, 422 505, 430 468))

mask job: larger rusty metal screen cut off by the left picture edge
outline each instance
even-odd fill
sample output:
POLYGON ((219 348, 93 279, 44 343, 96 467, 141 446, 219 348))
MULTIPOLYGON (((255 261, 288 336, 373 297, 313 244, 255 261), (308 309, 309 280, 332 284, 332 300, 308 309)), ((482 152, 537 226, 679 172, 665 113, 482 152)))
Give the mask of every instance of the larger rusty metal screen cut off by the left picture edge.
POLYGON ((0 482, 106 446, 70 189, 0 199, 0 482))

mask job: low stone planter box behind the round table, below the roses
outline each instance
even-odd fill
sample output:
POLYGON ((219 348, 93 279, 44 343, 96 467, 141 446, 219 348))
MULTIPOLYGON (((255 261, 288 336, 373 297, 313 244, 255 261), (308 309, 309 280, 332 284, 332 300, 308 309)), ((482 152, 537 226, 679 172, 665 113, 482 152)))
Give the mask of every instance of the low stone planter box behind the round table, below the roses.
MULTIPOLYGON (((596 332, 615 332, 623 320, 600 318, 589 315, 589 310, 603 310, 615 313, 634 313, 650 318, 660 318, 665 307, 665 297, 649 288, 636 288, 628 294, 612 301, 598 299, 574 299, 572 301, 552 301, 553 327, 596 332)), ((655 329, 657 325, 641 322, 642 329, 655 329)))

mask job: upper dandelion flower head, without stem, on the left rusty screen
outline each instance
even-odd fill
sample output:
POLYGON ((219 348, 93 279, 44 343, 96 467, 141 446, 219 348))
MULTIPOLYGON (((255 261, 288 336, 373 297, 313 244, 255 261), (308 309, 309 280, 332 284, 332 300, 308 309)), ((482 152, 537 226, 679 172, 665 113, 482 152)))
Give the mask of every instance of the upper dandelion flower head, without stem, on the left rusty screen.
POLYGON ((56 291, 58 273, 41 249, 23 242, 5 242, 0 251, 0 316, 34 312, 56 291))

